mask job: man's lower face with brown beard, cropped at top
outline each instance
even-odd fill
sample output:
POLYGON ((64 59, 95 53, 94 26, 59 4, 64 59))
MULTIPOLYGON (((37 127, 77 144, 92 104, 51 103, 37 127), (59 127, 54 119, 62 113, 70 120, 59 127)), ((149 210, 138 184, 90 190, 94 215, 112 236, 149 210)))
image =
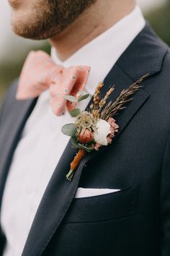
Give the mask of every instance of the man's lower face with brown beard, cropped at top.
POLYGON ((24 38, 58 35, 97 0, 9 0, 12 28, 24 38))

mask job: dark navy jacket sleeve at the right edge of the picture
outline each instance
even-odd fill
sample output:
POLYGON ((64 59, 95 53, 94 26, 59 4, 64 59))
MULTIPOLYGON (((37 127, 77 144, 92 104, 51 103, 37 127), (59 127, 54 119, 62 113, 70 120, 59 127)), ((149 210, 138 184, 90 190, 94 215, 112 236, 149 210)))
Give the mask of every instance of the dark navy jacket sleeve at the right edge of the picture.
POLYGON ((170 136, 161 176, 161 256, 170 255, 170 136))

